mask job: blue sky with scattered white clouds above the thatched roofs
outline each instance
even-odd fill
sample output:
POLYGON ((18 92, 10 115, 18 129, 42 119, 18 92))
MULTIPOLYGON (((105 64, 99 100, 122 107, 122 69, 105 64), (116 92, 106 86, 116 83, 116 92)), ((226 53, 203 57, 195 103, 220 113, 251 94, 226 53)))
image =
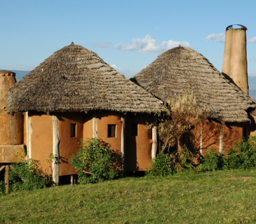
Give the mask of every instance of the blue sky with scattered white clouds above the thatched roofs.
POLYGON ((243 24, 256 76, 255 9, 254 0, 0 0, 0 69, 32 70, 74 42, 128 78, 179 44, 221 70, 226 27, 243 24))

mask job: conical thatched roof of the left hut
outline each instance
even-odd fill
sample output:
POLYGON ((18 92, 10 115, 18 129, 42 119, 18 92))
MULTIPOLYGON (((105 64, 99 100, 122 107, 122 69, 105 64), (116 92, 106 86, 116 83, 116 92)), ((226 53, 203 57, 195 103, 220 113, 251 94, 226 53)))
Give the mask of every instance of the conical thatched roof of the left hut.
POLYGON ((152 113, 161 101, 126 79, 96 53, 71 43, 9 89, 13 111, 110 110, 152 113))

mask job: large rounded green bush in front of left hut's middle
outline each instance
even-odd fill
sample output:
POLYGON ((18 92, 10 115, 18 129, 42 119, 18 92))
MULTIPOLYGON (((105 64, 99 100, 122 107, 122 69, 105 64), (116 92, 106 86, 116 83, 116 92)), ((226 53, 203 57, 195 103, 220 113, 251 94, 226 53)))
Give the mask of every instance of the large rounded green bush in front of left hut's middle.
POLYGON ((118 176, 114 151, 103 140, 80 140, 77 154, 71 155, 71 166, 78 171, 78 181, 86 184, 111 180, 118 176))

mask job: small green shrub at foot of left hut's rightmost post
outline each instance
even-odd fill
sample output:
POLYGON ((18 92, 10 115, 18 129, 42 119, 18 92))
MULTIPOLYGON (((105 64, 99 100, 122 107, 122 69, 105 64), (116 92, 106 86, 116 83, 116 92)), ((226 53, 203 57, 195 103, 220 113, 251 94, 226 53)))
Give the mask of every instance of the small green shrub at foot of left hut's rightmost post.
POLYGON ((147 174, 156 177, 165 177, 171 175, 173 172, 174 167, 170 155, 161 152, 152 160, 151 169, 147 174))

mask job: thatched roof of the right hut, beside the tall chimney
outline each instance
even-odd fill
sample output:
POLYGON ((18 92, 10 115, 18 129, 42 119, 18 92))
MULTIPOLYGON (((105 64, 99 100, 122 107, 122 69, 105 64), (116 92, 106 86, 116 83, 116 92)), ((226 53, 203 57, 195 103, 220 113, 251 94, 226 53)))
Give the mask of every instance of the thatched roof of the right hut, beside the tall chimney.
POLYGON ((210 107, 209 118, 224 122, 249 121, 256 103, 200 53, 189 47, 165 51, 131 80, 163 101, 191 91, 199 105, 210 107))

